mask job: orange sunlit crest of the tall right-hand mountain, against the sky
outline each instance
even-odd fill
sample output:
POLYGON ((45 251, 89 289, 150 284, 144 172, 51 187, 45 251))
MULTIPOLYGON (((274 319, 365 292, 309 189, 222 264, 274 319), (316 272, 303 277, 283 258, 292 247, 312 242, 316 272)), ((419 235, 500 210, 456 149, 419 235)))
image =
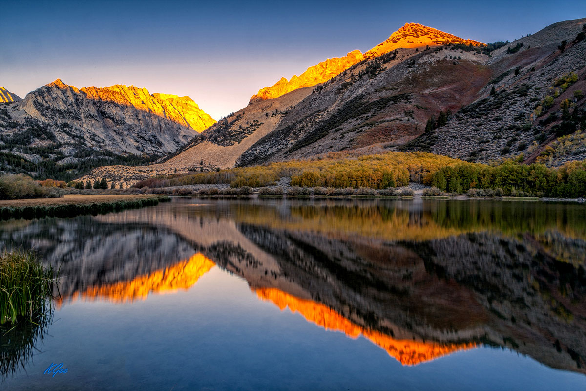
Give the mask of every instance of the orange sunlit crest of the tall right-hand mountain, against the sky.
POLYGON ((379 45, 373 47, 364 54, 362 54, 360 50, 354 50, 353 52, 348 53, 345 57, 328 59, 317 65, 311 66, 300 76, 293 76, 290 80, 282 77, 281 80, 277 81, 273 86, 264 87, 258 90, 258 93, 253 95, 250 100, 258 101, 277 98, 293 90, 324 83, 364 59, 378 57, 385 53, 392 52, 395 49, 410 49, 415 47, 425 47, 427 45, 448 45, 448 43, 451 45, 459 43, 462 45, 485 46, 482 42, 477 42, 472 39, 462 39, 455 35, 444 33, 443 31, 420 25, 418 23, 406 23, 406 25, 391 34, 387 40, 381 42, 379 45))

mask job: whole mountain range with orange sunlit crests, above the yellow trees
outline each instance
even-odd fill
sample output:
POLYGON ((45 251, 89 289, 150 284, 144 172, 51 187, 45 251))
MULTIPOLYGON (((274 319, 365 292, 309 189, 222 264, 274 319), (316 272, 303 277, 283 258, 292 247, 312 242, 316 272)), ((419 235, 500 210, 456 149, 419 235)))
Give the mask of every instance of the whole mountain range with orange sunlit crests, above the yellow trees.
POLYGON ((335 151, 421 150, 475 162, 523 154, 560 165, 586 158, 578 132, 586 127, 585 25, 586 18, 558 22, 485 44, 407 23, 365 53, 353 50, 260 89, 217 123, 187 97, 118 85, 77 90, 60 80, 4 110, 21 124, 23 115, 46 124, 57 142, 83 144, 71 134, 85 132, 87 149, 145 162, 164 155, 142 166, 111 161, 81 177, 124 185, 335 151))

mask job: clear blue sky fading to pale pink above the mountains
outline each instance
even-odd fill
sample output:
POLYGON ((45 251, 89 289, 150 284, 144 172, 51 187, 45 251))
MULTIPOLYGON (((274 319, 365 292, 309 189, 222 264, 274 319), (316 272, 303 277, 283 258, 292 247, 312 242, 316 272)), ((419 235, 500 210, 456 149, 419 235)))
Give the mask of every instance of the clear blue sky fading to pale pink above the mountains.
POLYGON ((586 17, 586 1, 0 0, 0 86, 60 78, 190 96, 219 119, 261 87, 378 45, 407 22, 481 42, 586 17))

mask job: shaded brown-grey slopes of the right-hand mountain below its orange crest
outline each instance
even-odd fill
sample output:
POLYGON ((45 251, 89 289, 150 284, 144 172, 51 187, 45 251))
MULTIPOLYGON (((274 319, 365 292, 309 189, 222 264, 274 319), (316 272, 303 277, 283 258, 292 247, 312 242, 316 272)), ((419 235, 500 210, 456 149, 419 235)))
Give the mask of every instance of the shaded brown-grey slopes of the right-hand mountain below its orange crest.
MULTIPOLYGON (((586 138, 577 132, 586 128, 585 24, 586 18, 558 22, 488 46, 426 44, 367 57, 316 86, 255 98, 160 164, 101 167, 84 179, 105 176, 130 184, 188 167, 246 166, 335 151, 421 150, 477 162, 524 154, 526 161, 548 165, 586 158, 586 138)), ((374 52, 393 40, 404 46, 423 40, 393 36, 374 52)))

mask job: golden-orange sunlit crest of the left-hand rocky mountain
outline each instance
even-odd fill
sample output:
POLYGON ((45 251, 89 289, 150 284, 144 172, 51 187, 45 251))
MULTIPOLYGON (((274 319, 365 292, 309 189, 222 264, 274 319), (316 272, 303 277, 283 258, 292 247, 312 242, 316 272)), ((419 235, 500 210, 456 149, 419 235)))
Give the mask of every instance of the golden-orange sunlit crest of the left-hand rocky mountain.
POLYGON ((139 89, 135 86, 128 87, 124 84, 114 84, 114 86, 103 88, 83 87, 82 89, 76 89, 76 87, 63 83, 61 79, 57 79, 53 83, 47 84, 47 86, 54 86, 60 89, 71 87, 77 93, 80 91, 85 93, 90 99, 134 106, 138 110, 148 111, 159 117, 190 127, 196 132, 202 132, 216 123, 216 120, 200 109, 197 103, 188 96, 151 94, 147 89, 139 89))

